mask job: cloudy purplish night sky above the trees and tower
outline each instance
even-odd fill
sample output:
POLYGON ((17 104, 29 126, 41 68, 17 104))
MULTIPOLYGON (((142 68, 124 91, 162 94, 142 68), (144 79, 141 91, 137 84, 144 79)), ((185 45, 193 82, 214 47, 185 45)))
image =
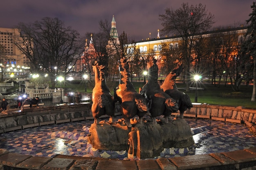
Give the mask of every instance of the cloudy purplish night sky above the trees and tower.
POLYGON ((2 0, 0 3, 0 27, 11 28, 19 22, 32 23, 44 17, 58 18, 83 36, 98 32, 99 21, 115 16, 117 31, 123 31, 130 39, 141 40, 157 37, 162 29, 159 14, 166 8, 181 7, 182 2, 206 5, 215 16, 214 27, 243 24, 249 19, 254 0, 2 0))

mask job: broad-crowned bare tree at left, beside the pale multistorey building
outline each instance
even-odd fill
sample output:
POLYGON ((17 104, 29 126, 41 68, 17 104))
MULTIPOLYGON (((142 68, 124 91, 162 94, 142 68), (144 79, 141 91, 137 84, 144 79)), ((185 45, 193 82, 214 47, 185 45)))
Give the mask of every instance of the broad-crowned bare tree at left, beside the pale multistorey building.
POLYGON ((55 87, 55 76, 68 74, 82 53, 79 33, 58 18, 48 17, 33 24, 19 23, 17 28, 23 36, 12 37, 14 44, 31 62, 31 70, 47 72, 55 87))

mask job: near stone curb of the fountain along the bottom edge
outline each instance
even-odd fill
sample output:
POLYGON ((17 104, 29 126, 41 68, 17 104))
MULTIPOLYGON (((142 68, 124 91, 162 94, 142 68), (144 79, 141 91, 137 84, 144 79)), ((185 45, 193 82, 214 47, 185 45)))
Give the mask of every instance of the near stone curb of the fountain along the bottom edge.
POLYGON ((256 147, 232 152, 144 160, 92 159, 67 155, 56 155, 54 158, 32 157, 0 149, 0 169, 14 168, 34 170, 186 170, 198 168, 249 170, 256 168, 256 147))

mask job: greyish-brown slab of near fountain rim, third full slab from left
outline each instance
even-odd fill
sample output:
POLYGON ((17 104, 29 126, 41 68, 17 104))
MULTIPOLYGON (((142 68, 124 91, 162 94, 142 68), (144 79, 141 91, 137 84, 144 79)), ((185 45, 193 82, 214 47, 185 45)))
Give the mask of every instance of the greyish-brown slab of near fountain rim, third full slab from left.
POLYGON ((53 158, 41 170, 67 170, 74 164, 74 159, 53 158))

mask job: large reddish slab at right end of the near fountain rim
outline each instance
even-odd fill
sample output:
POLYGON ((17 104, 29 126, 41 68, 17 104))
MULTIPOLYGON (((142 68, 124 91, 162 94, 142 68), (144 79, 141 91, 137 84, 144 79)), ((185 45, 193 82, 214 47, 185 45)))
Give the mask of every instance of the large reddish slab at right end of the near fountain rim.
POLYGON ((256 161, 256 155, 246 150, 236 150, 232 152, 222 152, 221 154, 233 159, 237 163, 256 161))

